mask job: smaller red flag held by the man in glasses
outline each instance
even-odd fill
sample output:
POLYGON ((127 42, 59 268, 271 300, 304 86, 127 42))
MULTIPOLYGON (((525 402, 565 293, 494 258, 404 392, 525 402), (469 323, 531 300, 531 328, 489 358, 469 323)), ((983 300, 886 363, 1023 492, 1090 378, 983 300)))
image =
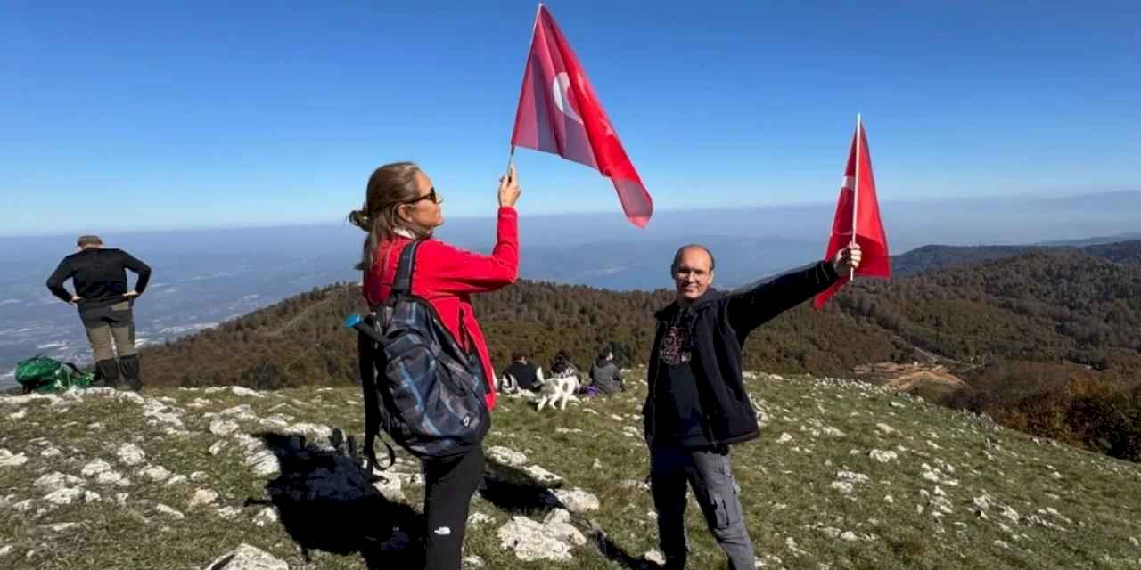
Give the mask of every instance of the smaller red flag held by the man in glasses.
MULTIPOLYGON (((875 177, 872 176, 872 155, 867 148, 867 133, 864 131, 863 122, 857 122, 851 150, 848 152, 848 168, 844 170, 844 181, 840 188, 840 199, 836 203, 836 217, 832 222, 832 237, 828 239, 824 259, 832 261, 835 259, 836 252, 851 243, 852 207, 856 209, 856 243, 860 246, 861 255, 856 275, 891 277, 888 236, 883 230, 883 221, 880 219, 880 203, 875 197, 875 177), (856 192, 857 172, 859 173, 858 193, 856 192)), ((840 280, 827 291, 816 295, 812 306, 816 309, 823 307, 848 280, 849 274, 841 275, 840 280)))

